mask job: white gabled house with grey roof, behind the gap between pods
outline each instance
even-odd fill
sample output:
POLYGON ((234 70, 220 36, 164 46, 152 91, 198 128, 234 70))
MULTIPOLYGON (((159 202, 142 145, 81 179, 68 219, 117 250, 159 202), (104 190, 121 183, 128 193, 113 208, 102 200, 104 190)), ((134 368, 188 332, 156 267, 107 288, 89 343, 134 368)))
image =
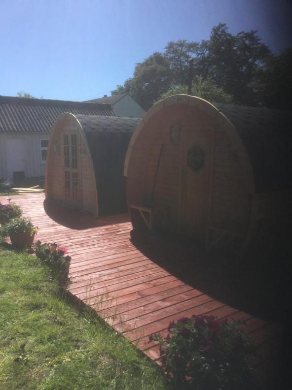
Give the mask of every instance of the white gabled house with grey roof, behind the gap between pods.
POLYGON ((105 103, 112 106, 112 110, 117 116, 132 117, 132 118, 142 118, 146 113, 142 107, 134 101, 129 93, 122 93, 120 95, 107 96, 104 95, 103 98, 89 100, 91 103, 105 103))

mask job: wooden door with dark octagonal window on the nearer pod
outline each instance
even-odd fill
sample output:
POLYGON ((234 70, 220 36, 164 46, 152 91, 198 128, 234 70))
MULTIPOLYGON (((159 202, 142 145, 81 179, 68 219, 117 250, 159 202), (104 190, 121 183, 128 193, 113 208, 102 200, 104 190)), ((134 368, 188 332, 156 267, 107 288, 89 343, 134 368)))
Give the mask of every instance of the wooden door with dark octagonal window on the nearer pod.
POLYGON ((181 129, 180 230, 205 241, 208 207, 209 132, 181 129))

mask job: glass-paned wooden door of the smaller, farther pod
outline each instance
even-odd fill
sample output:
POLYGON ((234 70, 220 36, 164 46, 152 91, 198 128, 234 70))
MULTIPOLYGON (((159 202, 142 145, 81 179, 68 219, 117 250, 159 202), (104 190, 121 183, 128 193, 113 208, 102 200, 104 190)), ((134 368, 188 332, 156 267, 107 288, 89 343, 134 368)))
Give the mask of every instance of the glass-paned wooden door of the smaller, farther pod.
POLYGON ((76 133, 63 135, 63 157, 66 201, 81 207, 80 159, 78 135, 76 133))

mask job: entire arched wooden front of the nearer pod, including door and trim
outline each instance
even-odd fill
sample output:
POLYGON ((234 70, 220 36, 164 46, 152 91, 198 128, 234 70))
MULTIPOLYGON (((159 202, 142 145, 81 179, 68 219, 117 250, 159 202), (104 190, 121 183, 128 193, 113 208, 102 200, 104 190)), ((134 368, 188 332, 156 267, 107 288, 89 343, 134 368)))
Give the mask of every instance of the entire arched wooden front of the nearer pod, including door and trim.
POLYGON ((131 205, 150 200, 162 145, 153 202, 158 210, 167 209, 167 222, 158 215, 157 227, 192 234, 204 242, 221 233, 243 237, 254 192, 249 157, 231 122, 210 103, 188 95, 156 104, 132 136, 124 174, 134 228, 143 222, 131 205), (173 125, 180 128, 177 143, 171 141, 173 125), (193 144, 205 151, 205 165, 198 172, 186 165, 193 144))

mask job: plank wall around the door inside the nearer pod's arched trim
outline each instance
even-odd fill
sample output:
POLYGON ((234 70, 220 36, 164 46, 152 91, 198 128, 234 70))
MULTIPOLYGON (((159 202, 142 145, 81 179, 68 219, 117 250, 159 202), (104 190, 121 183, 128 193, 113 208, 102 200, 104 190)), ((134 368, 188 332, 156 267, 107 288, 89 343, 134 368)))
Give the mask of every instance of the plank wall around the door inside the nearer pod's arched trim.
MULTIPOLYGON (((169 228, 178 230, 181 144, 170 141, 171 125, 213 126, 213 156, 210 168, 208 224, 218 229, 244 235, 250 220, 250 194, 244 167, 227 132, 214 126, 212 118, 194 107, 167 107, 155 114, 142 128, 133 147, 127 178, 128 202, 150 200, 159 153, 162 157, 154 192, 154 203, 168 206, 169 228), (178 118, 178 119, 177 119, 178 118)), ((238 147, 238 146, 237 146, 238 147)))

